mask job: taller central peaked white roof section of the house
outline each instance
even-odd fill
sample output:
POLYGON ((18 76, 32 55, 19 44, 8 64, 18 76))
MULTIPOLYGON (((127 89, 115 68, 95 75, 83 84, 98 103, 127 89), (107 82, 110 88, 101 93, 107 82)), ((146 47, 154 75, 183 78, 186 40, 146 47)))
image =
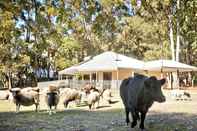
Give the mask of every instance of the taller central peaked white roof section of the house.
POLYGON ((117 69, 133 69, 142 70, 144 62, 127 57, 121 54, 117 54, 112 51, 104 52, 100 55, 93 57, 78 66, 80 72, 83 71, 113 71, 117 69))

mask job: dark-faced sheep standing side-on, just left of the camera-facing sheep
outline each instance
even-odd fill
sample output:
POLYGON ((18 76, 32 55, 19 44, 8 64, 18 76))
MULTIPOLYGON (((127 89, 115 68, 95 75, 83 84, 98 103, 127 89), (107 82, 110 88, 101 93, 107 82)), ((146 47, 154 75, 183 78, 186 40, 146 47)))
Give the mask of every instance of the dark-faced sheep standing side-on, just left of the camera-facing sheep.
POLYGON ((31 106, 35 104, 36 111, 39 106, 39 88, 31 88, 27 90, 26 88, 12 88, 10 89, 12 94, 13 102, 16 104, 16 112, 19 112, 20 106, 31 106))

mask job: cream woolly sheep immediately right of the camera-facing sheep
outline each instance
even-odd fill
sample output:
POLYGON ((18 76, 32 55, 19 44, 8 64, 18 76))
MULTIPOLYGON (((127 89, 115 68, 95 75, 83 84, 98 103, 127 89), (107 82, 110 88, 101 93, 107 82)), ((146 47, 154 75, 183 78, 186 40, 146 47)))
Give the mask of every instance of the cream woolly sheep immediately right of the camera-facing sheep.
POLYGON ((64 88, 61 90, 61 96, 63 97, 65 108, 68 107, 71 101, 78 101, 78 103, 81 101, 81 91, 76 89, 64 88))

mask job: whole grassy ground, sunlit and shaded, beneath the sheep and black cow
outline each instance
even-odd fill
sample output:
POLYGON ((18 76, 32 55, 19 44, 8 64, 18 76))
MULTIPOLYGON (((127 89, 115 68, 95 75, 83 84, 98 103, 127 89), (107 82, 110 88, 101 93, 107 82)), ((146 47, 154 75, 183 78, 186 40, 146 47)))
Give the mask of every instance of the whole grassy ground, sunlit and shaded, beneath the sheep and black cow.
MULTIPOLYGON (((117 93, 118 94, 118 93, 117 93)), ((87 106, 76 107, 70 104, 64 109, 60 102, 56 114, 49 115, 42 101, 40 111, 34 106, 22 107, 15 113, 15 106, 9 101, 0 101, 0 130, 2 131, 127 131, 123 105, 118 95, 112 105, 102 102, 99 109, 89 111, 87 106)), ((169 98, 163 104, 155 103, 145 121, 148 131, 196 131, 197 95, 192 101, 173 101, 169 98)), ((138 131, 139 128, 133 129, 138 131)))

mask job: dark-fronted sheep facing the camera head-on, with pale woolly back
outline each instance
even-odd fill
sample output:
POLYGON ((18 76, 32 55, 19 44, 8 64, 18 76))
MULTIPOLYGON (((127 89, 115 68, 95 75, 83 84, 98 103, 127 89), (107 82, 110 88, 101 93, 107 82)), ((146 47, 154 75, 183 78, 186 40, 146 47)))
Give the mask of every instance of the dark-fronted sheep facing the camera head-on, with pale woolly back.
POLYGON ((57 105, 59 103, 59 94, 60 94, 59 88, 57 88, 54 85, 49 85, 47 92, 46 92, 46 96, 45 96, 46 103, 49 107, 49 115, 52 114, 53 106, 55 110, 57 109, 57 105))

